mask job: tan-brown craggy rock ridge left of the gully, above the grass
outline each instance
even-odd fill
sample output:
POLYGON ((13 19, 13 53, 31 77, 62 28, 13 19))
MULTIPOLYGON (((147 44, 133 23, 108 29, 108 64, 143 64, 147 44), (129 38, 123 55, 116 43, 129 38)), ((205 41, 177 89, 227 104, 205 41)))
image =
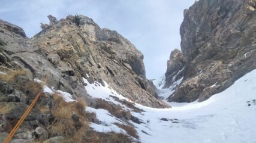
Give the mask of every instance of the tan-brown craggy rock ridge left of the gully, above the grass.
POLYGON ((49 72, 49 86, 74 98, 86 98, 88 105, 95 101, 86 93, 83 77, 103 84, 105 80, 140 104, 168 107, 156 98, 152 83, 146 79, 143 55, 119 33, 101 29, 83 15, 69 15, 59 21, 52 15, 48 18, 50 24, 41 23, 41 32, 31 39, 21 28, 1 20, 1 63, 25 67, 32 78, 41 80, 49 72))

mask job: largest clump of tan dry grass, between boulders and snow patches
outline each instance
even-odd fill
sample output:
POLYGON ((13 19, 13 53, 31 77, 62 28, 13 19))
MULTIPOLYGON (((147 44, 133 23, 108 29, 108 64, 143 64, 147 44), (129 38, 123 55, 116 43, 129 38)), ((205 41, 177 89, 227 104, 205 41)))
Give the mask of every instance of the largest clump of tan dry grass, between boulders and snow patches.
POLYGON ((49 128, 50 136, 64 136, 69 142, 83 142, 89 130, 89 122, 85 118, 85 101, 80 98, 77 102, 65 102, 59 95, 52 97, 54 106, 51 113, 54 119, 49 128), (74 114, 79 116, 78 121, 73 119, 74 114))

